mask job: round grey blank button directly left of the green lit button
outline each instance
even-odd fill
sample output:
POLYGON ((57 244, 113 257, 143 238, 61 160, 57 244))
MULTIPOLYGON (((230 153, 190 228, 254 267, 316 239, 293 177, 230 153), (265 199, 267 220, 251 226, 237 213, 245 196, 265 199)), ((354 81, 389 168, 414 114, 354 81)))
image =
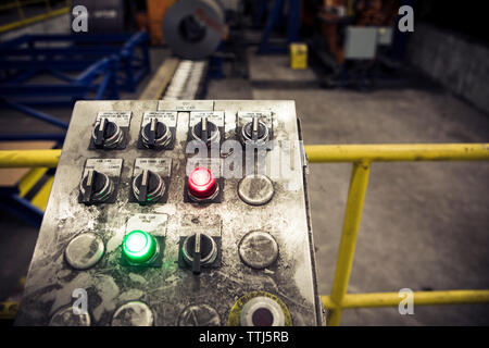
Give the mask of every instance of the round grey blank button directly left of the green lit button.
POLYGON ((87 270, 100 261, 105 247, 93 233, 84 233, 70 241, 64 250, 66 262, 76 270, 87 270))

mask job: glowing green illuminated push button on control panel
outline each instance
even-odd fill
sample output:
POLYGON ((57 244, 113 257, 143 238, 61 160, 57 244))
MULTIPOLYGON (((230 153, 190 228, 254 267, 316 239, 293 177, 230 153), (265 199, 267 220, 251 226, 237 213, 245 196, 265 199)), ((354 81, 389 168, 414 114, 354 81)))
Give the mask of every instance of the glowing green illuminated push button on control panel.
POLYGON ((156 253, 156 241, 143 231, 129 232, 123 240, 123 254, 131 263, 143 263, 156 253))

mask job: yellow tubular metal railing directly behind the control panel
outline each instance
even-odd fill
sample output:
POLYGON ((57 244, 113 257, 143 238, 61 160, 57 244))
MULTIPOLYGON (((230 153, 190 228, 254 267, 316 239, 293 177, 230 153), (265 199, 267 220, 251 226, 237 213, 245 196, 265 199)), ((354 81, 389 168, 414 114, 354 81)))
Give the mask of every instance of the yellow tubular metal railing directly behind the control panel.
MULTIPOLYGON (((488 161, 489 144, 313 145, 312 163, 352 162, 352 175, 331 294, 322 296, 328 325, 339 325, 348 308, 399 306, 398 293, 347 294, 372 162, 488 161)), ((0 151, 0 167, 54 167, 61 150, 0 151)), ((488 303, 489 290, 415 291, 414 306, 488 303)))

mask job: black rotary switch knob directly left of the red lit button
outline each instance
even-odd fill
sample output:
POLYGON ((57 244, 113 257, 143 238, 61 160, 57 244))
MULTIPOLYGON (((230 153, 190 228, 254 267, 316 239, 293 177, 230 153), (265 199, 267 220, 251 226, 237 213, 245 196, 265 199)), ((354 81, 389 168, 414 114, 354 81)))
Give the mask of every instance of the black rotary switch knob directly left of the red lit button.
POLYGON ((141 206, 158 201, 164 192, 164 181, 150 170, 143 170, 133 181, 133 194, 141 206))

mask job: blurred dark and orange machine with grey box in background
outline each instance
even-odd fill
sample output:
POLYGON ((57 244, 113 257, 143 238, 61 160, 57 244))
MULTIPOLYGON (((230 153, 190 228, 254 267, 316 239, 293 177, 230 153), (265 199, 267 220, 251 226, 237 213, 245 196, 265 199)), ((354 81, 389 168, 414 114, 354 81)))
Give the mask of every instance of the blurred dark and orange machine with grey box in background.
POLYGON ((403 38, 393 27, 401 4, 398 0, 304 1, 303 29, 323 67, 319 76, 325 87, 367 87, 396 76, 401 54, 392 54, 392 48, 402 50, 403 38))

